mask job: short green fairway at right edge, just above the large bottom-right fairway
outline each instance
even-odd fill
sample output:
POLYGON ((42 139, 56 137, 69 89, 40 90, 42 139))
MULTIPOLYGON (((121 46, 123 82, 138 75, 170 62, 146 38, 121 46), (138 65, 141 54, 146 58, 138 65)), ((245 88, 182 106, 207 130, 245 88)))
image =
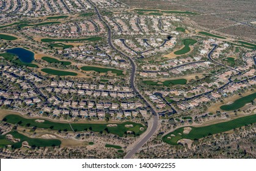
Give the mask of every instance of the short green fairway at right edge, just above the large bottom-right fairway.
POLYGON ((221 106, 221 109, 224 111, 233 111, 236 109, 240 109, 243 107, 246 103, 251 103, 256 98, 256 93, 252 93, 251 95, 244 96, 242 98, 239 98, 238 100, 234 101, 232 104, 227 104, 221 106))

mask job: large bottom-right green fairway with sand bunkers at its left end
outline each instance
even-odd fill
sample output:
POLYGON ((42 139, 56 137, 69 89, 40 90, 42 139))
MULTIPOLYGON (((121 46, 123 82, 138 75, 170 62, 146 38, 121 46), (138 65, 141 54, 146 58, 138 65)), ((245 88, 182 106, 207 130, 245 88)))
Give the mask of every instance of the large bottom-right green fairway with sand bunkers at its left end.
POLYGON ((207 137, 211 134, 223 133, 225 131, 229 131, 235 128, 240 128, 241 126, 249 125, 255 122, 256 122, 256 115, 254 114, 246 117, 236 118, 228 122, 216 123, 214 125, 201 126, 201 127, 189 126, 190 128, 192 128, 189 134, 183 134, 184 128, 188 127, 188 126, 185 126, 185 127, 178 128, 175 131, 172 131, 172 133, 169 133, 166 136, 164 136, 163 141, 166 142, 167 144, 177 145, 177 141, 180 139, 191 139, 191 140, 200 139, 202 137, 207 137), (171 134, 174 134, 175 137, 170 136, 171 134), (167 137, 171 137, 171 139, 168 139, 167 137))

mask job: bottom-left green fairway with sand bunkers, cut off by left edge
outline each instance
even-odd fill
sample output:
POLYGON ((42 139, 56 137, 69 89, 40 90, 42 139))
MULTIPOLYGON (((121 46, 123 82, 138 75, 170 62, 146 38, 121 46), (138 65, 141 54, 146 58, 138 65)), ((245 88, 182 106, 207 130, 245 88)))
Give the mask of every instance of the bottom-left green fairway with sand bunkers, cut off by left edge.
POLYGON ((35 139, 24 136, 23 134, 18 133, 17 131, 11 131, 13 139, 20 139, 20 142, 12 142, 5 138, 6 135, 0 136, 0 148, 5 147, 6 145, 12 145, 12 148, 21 148, 22 142, 28 142, 31 147, 51 147, 51 146, 59 146, 61 144, 60 140, 57 139, 35 139))

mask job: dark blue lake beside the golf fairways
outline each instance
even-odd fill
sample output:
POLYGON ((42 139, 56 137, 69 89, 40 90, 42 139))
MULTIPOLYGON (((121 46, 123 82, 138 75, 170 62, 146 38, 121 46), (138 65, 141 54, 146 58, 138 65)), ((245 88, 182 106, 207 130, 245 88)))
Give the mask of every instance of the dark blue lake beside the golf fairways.
POLYGON ((21 62, 31 63, 34 60, 34 53, 24 48, 12 48, 8 49, 7 53, 15 54, 19 57, 21 62))

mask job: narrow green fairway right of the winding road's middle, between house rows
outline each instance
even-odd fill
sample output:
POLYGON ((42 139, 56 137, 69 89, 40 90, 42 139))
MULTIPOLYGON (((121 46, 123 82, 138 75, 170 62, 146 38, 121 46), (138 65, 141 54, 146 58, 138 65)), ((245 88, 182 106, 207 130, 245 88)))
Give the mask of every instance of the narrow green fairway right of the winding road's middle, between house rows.
POLYGON ((187 80, 186 79, 173 79, 173 80, 166 80, 166 81, 153 81, 153 80, 144 80, 142 81, 147 85, 165 85, 165 86, 169 86, 169 85, 184 85, 186 84, 187 80))

